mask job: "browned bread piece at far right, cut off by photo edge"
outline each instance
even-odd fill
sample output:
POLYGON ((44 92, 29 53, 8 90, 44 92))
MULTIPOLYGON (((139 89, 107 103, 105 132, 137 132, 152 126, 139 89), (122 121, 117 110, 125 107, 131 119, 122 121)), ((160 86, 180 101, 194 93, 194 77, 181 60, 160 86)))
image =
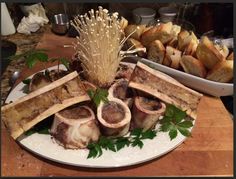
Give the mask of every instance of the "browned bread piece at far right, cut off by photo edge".
POLYGON ((218 62, 207 74, 208 80, 227 83, 233 79, 233 60, 218 62))

